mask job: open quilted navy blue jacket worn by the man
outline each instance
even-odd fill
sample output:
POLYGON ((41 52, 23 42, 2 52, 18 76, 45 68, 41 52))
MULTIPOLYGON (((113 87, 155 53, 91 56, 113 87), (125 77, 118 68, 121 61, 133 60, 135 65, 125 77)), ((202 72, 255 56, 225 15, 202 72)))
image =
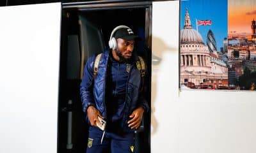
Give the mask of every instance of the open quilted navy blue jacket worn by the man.
MULTIPOLYGON (((144 96, 140 94, 141 87, 141 74, 140 70, 136 67, 136 61, 138 57, 133 57, 131 64, 131 70, 129 72, 129 77, 126 85, 125 101, 124 101, 124 112, 121 121, 121 128, 123 131, 131 131, 128 127, 127 121, 129 120, 129 115, 138 108, 142 106, 145 112, 148 112, 148 103, 144 96)), ((88 106, 95 106, 103 117, 107 118, 106 110, 106 75, 108 71, 108 60, 109 60, 109 50, 102 53, 100 59, 99 69, 97 75, 93 78, 93 64, 95 61, 95 55, 90 57, 86 62, 84 67, 83 80, 80 85, 81 101, 83 106, 83 112, 87 114, 88 106)))

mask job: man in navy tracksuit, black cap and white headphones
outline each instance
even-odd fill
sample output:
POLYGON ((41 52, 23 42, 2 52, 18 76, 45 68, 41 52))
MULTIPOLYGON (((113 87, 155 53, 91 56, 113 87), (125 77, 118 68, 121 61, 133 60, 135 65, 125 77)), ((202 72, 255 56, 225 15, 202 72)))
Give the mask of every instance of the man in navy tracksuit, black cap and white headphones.
POLYGON ((81 101, 90 124, 86 152, 134 152, 134 131, 148 104, 141 94, 140 60, 134 54, 138 36, 125 26, 116 27, 95 68, 95 55, 84 67, 81 101), (113 36, 113 37, 112 37, 113 36), (94 70, 97 69, 97 73, 94 70), (100 117, 100 118, 99 118, 100 117), (106 129, 97 127, 106 120, 106 129))

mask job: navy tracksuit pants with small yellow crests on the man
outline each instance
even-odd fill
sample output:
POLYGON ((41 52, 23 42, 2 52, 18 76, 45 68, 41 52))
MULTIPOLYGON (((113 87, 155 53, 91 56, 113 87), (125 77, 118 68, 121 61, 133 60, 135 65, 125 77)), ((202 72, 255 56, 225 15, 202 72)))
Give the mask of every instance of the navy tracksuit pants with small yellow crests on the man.
POLYGON ((105 132, 102 143, 103 131, 90 126, 86 153, 131 153, 135 152, 134 133, 105 132))

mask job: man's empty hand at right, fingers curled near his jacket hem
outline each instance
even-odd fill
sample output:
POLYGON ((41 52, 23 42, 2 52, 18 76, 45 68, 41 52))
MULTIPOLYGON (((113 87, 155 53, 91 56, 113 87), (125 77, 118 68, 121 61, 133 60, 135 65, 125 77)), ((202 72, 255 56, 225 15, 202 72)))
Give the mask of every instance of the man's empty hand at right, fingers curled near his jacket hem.
POLYGON ((141 106, 139 108, 136 108, 136 110, 134 110, 132 112, 132 114, 129 116, 132 119, 127 122, 129 124, 128 125, 129 128, 131 128, 131 129, 139 128, 139 126, 141 124, 142 117, 143 117, 143 113, 144 113, 144 109, 141 106))

